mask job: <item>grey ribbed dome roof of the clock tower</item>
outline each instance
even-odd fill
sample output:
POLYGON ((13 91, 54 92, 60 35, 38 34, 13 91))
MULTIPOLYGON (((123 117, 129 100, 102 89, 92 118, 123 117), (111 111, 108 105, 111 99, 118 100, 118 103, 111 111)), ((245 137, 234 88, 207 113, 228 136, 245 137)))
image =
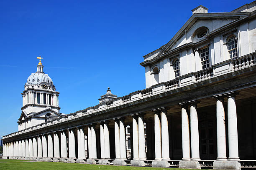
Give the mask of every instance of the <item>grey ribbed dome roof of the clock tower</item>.
POLYGON ((35 73, 32 73, 29 77, 28 77, 28 80, 26 82, 29 83, 29 82, 47 82, 51 85, 53 85, 53 82, 51 80, 51 77, 49 77, 48 74, 45 74, 44 72, 35 72, 35 73))

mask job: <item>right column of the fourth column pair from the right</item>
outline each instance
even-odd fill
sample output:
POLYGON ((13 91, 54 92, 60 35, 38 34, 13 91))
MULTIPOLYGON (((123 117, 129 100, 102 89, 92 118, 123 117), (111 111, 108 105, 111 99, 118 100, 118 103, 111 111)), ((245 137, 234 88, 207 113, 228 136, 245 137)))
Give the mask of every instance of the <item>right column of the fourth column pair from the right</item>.
POLYGON ((138 115, 138 144, 139 144, 139 159, 146 160, 145 152, 145 130, 144 130, 144 114, 138 115))

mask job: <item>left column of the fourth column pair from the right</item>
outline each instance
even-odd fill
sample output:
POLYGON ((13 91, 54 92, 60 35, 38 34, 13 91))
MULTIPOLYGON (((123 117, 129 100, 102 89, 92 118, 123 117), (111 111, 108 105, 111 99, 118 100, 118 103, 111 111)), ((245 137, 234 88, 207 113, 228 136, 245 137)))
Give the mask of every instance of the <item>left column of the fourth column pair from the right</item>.
POLYGON ((138 146, 138 116, 133 116, 133 160, 139 158, 139 146, 138 146))

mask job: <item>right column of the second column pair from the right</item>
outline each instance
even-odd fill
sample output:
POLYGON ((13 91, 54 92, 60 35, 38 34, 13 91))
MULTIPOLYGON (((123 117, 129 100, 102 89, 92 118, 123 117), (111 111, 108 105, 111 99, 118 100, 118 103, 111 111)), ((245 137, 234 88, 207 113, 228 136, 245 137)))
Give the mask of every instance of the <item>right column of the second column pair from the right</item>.
POLYGON ((191 159, 192 160, 200 160, 197 103, 198 101, 190 102, 190 130, 191 130, 191 159))

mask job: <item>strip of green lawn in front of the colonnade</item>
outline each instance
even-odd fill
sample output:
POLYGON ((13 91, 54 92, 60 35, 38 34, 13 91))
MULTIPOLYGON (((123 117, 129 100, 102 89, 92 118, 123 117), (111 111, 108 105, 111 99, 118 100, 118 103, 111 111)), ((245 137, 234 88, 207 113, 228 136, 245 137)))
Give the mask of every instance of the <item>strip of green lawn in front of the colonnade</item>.
MULTIPOLYGON (((0 170, 180 170, 178 168, 151 168, 114 165, 89 165, 78 163, 26 162, 19 160, 0 160, 0 170), (10 162, 14 161, 14 162, 10 162)), ((184 170, 184 169, 182 169, 184 170)))

